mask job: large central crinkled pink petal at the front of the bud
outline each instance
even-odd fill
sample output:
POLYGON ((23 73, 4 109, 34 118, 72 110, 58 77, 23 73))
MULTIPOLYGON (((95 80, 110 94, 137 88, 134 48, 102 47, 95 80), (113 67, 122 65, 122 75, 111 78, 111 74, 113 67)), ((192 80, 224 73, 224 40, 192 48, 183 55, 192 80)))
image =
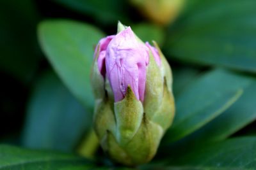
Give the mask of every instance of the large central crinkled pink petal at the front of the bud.
POLYGON ((131 27, 119 32, 106 50, 106 72, 115 101, 124 99, 128 85, 136 98, 145 96, 147 46, 139 43, 131 27))

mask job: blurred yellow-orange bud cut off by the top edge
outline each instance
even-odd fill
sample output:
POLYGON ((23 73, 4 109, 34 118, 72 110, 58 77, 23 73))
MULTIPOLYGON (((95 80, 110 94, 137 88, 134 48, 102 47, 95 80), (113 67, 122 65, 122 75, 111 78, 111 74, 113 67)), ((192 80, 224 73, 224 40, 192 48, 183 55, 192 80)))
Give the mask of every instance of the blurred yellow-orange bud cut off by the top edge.
POLYGON ((160 25, 173 22, 184 6, 184 0, 131 0, 131 3, 145 17, 160 25))

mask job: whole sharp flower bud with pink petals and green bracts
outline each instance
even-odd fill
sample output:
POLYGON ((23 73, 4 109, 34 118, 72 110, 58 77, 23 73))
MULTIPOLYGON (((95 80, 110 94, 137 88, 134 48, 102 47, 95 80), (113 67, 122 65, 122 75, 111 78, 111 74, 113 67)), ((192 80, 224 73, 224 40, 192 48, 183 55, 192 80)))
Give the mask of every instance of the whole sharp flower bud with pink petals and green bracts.
POLYGON ((171 69, 156 43, 143 43, 118 23, 118 34, 95 49, 91 80, 104 151, 128 166, 151 160, 175 110, 171 69))

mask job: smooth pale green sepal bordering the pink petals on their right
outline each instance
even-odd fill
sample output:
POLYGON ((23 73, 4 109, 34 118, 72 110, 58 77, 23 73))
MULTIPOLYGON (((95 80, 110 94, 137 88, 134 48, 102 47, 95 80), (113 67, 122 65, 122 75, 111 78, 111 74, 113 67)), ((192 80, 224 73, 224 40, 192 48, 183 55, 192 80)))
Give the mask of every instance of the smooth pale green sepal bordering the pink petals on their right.
POLYGON ((145 99, 143 102, 144 112, 147 118, 151 118, 158 110, 163 100, 163 76, 161 69, 149 51, 149 63, 147 66, 147 78, 145 88, 145 99))

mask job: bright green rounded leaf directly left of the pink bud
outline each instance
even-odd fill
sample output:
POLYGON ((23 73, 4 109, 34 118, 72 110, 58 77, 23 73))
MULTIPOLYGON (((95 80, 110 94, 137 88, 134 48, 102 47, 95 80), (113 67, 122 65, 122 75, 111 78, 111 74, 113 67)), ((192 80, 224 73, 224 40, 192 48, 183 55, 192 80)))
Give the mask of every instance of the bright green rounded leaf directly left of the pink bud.
POLYGON ((93 108, 90 68, 93 46, 104 34, 95 27, 71 20, 40 23, 38 37, 42 50, 61 80, 87 108, 93 108))

